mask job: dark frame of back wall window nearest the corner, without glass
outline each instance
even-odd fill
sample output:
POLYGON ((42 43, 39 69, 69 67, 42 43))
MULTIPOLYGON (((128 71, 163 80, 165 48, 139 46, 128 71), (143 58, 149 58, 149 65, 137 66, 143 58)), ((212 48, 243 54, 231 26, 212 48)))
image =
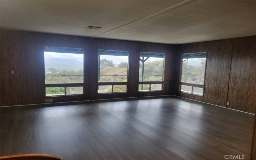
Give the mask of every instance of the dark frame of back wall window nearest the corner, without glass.
MULTIPOLYGON (((141 52, 140 52, 141 53, 141 52)), ((139 66, 140 66, 140 53, 139 53, 139 66)), ((162 76, 162 81, 143 81, 140 82, 140 71, 139 71, 139 83, 138 84, 149 84, 149 91, 139 91, 139 85, 138 85, 138 92, 163 92, 164 91, 164 71, 165 71, 165 53, 163 52, 148 52, 148 53, 161 53, 164 54, 164 63, 163 63, 163 76, 162 76), (158 91, 151 91, 151 84, 162 84, 162 90, 158 90, 158 91)), ((140 70, 140 67, 139 67, 140 70)))

